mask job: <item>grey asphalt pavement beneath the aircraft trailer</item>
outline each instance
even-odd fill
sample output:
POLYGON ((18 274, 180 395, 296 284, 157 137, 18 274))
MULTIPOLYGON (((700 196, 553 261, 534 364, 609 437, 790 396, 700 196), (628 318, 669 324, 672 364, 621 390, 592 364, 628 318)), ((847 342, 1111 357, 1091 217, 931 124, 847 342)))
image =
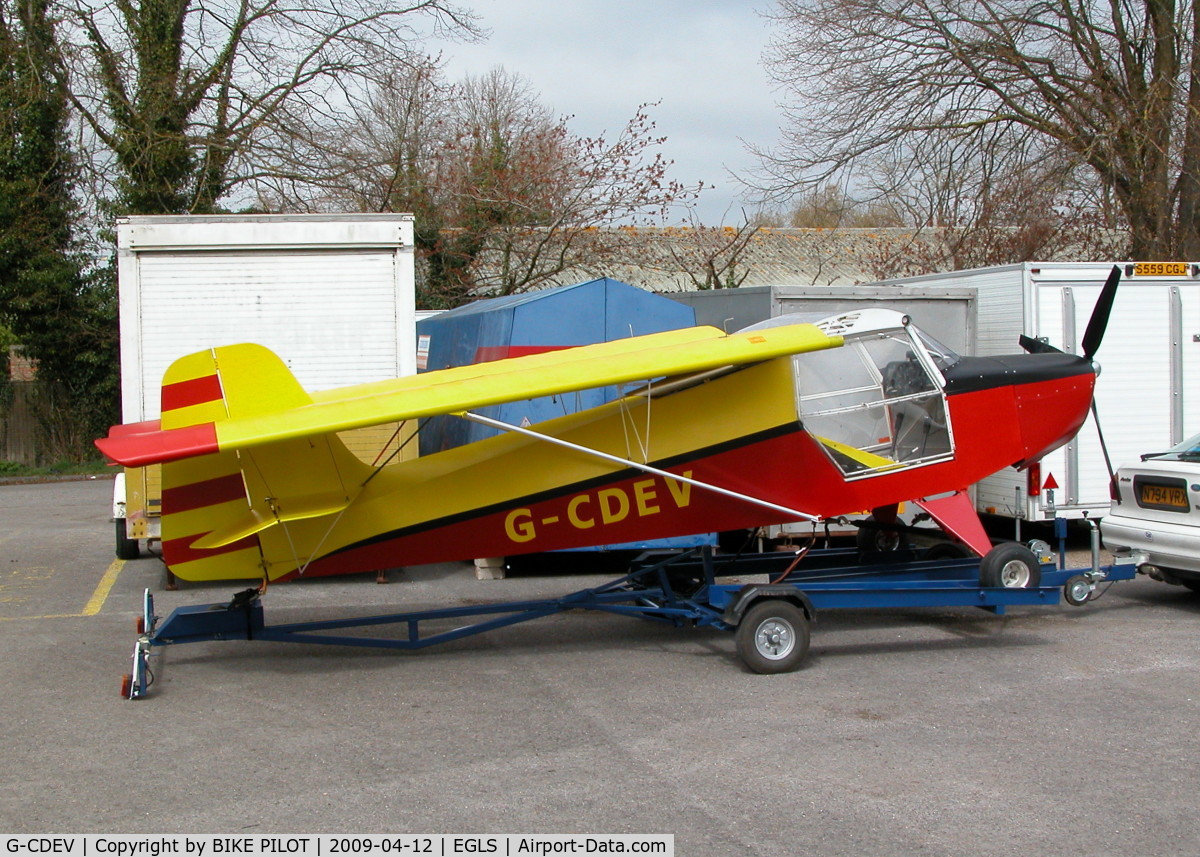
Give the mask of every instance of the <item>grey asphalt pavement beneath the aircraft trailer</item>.
MULTIPOLYGON (((1200 853, 1200 598, 827 612, 806 666, 732 635, 565 613, 422 652, 161 649, 120 699, 142 592, 110 483, 0 486, 0 831, 673 833, 676 853, 1200 853)), ((272 586, 268 618, 563 594, 472 567, 272 586)))

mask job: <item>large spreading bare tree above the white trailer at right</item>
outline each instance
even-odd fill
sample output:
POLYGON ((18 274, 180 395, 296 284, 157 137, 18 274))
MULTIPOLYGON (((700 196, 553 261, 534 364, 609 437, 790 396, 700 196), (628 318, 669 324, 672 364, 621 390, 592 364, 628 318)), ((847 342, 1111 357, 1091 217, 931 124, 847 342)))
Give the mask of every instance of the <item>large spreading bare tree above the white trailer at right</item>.
POLYGON ((763 191, 924 186, 944 224, 998 212, 997 192, 1040 174, 1038 197, 1012 200, 1106 197, 1133 254, 1200 254, 1196 4, 778 0, 773 17, 768 62, 791 101, 760 152, 763 191))

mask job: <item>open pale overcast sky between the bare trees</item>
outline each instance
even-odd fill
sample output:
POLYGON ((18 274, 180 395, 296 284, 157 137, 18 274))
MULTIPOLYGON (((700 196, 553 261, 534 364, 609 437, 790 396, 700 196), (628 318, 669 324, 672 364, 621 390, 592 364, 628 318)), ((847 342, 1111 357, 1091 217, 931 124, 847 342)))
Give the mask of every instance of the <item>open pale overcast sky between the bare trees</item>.
POLYGON ((528 78, 542 102, 574 115, 581 136, 613 139, 637 106, 667 137, 672 178, 715 185, 704 226, 742 222, 730 170, 755 163, 743 140, 770 145, 779 119, 762 67, 766 0, 467 0, 492 31, 481 44, 443 43, 446 74, 496 66, 528 78))

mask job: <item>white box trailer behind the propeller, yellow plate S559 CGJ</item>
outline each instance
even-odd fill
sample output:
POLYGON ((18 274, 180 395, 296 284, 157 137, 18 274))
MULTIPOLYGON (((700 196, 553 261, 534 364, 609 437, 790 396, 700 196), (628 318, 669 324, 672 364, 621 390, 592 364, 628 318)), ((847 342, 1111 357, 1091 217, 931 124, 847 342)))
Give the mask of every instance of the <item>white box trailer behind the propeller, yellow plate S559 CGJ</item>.
MULTIPOLYGON (((1200 431, 1200 395, 1189 392, 1200 380, 1200 263, 1026 262, 869 286, 974 289, 974 354, 1019 353, 1021 334, 1076 354, 1114 264, 1123 277, 1096 355, 1096 407, 1117 467, 1200 431)), ((974 486, 974 497, 980 511, 1025 521, 1104 515, 1109 477, 1093 418, 1039 468, 1003 471, 974 486)))

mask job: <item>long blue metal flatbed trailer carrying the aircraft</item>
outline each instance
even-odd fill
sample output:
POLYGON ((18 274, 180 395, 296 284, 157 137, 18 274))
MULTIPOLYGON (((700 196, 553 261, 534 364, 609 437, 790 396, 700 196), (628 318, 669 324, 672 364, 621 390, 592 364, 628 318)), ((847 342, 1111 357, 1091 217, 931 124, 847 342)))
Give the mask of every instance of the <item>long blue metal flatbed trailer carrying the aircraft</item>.
MULTIPOLYGON (((133 672, 124 677, 121 694, 140 699, 152 676, 150 653, 162 646, 216 640, 265 640, 332 646, 416 649, 484 631, 528 622, 570 610, 593 610, 630 616, 676 627, 716 628, 733 631, 746 667, 758 673, 796 670, 809 649, 810 625, 821 611, 838 609, 974 606, 1003 613, 1015 605, 1052 605, 1063 598, 1079 606, 1100 583, 1130 580, 1132 563, 1100 567, 1098 537, 1093 534, 1090 569, 1063 569, 1050 561, 1049 546, 1037 546, 1034 567, 1021 564, 1020 574, 1000 580, 1021 586, 984 586, 977 557, 944 556, 934 549, 902 549, 863 555, 854 549, 824 549, 797 553, 719 556, 710 547, 679 553, 647 553, 628 574, 604 586, 580 589, 560 598, 455 606, 330 619, 268 624, 260 593, 246 589, 228 604, 175 610, 166 619, 154 612, 148 591, 142 636, 133 652, 133 672), (932 551, 932 552, 931 552, 932 551), (743 583, 731 577, 766 575, 766 582, 743 583), (467 619, 451 630, 422 633, 442 619, 467 619), (354 628, 396 625, 398 636, 347 636, 354 628)), ((989 557, 1025 555, 1016 543, 997 545, 989 557)), ((1014 564, 1016 561, 1012 561, 1014 564)), ((1007 567, 1006 567, 1007 568, 1007 567)))

